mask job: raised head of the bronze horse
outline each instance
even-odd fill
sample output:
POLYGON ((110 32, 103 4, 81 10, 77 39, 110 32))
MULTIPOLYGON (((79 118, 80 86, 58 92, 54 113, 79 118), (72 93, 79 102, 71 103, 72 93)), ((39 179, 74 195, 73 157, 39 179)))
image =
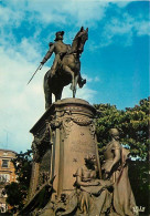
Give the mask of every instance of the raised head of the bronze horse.
POLYGON ((82 27, 74 39, 74 43, 76 43, 76 48, 74 49, 78 54, 81 54, 84 51, 84 45, 87 39, 88 39, 88 28, 84 30, 84 28, 82 27))

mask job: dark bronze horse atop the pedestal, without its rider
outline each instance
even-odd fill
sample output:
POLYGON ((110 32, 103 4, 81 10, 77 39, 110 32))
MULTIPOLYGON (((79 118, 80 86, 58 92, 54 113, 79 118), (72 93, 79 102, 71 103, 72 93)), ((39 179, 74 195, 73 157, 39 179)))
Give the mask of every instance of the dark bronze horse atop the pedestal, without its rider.
POLYGON ((73 97, 76 94, 76 86, 81 71, 81 54, 84 51, 84 44, 88 39, 88 29, 81 30, 75 35, 69 51, 61 58, 54 76, 47 78, 47 72, 44 76, 44 93, 45 109, 52 104, 52 93, 55 95, 55 101, 61 100, 63 88, 72 83, 73 97))

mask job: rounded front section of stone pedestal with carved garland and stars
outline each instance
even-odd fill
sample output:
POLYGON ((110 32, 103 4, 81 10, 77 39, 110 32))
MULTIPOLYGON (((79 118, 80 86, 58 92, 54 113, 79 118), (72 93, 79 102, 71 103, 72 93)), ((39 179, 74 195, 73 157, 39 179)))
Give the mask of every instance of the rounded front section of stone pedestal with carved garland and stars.
POLYGON ((94 115, 95 109, 83 100, 67 99, 54 104, 52 177, 56 176, 53 186, 57 195, 71 193, 74 174, 84 165, 85 156, 97 155, 94 115))

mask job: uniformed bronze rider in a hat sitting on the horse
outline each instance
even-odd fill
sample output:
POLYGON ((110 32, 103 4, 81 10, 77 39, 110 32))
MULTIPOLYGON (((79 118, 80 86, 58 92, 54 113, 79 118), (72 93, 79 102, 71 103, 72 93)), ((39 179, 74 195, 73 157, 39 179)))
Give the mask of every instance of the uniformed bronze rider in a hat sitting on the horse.
MULTIPOLYGON (((63 58, 71 50, 69 44, 63 43, 63 35, 64 35, 64 31, 58 31, 55 33, 55 40, 54 40, 55 42, 54 43, 50 42, 50 44, 49 44, 50 49, 41 62, 41 64, 44 64, 51 58, 53 52, 55 53, 55 59, 54 59, 53 65, 47 73, 49 78, 50 76, 52 78, 55 74, 56 68, 58 65, 58 62, 61 61, 61 58, 63 58)), ((85 83, 86 83, 86 80, 84 80, 81 76, 81 72, 79 72, 79 78, 78 78, 79 88, 82 88, 85 83)))

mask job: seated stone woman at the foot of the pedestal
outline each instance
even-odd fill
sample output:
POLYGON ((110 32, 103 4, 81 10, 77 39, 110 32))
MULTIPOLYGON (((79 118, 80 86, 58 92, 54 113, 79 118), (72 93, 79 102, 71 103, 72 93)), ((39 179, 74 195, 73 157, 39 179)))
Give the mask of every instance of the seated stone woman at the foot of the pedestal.
POLYGON ((87 155, 85 165, 75 174, 78 204, 83 214, 105 215, 110 208, 111 196, 108 188, 111 187, 111 183, 99 179, 97 172, 95 155, 87 155))

